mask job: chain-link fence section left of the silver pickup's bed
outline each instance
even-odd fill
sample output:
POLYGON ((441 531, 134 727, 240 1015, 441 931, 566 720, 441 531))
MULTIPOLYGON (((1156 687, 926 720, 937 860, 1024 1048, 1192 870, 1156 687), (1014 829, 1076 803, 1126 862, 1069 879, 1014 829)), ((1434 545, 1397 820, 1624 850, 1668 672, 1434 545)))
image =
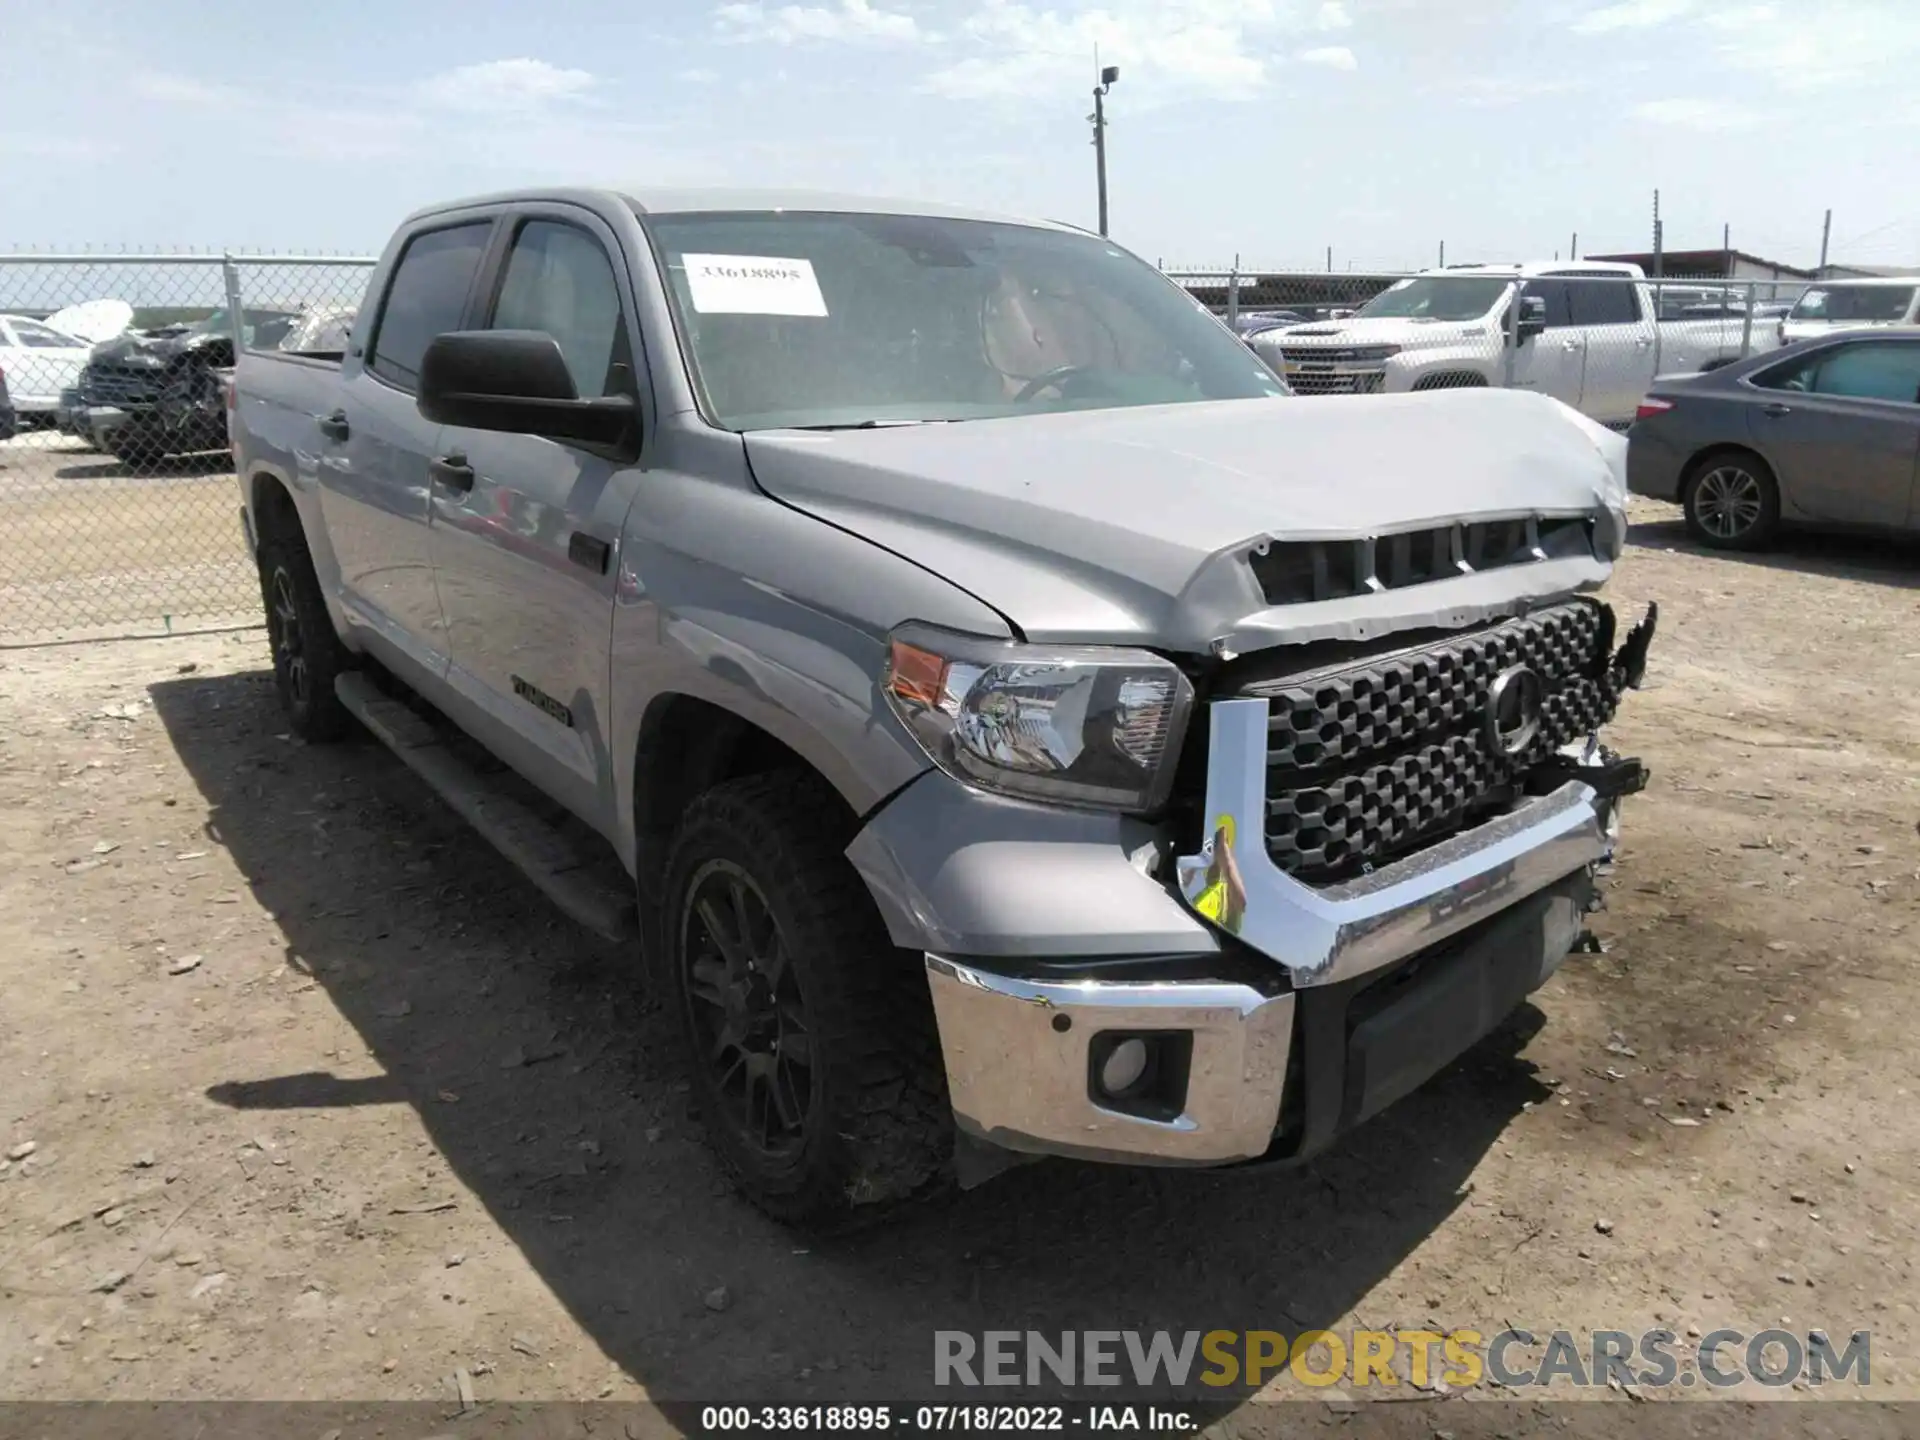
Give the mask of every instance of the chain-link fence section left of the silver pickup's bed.
POLYGON ((344 348, 371 267, 0 255, 0 645, 259 620, 227 449, 234 353, 344 348))

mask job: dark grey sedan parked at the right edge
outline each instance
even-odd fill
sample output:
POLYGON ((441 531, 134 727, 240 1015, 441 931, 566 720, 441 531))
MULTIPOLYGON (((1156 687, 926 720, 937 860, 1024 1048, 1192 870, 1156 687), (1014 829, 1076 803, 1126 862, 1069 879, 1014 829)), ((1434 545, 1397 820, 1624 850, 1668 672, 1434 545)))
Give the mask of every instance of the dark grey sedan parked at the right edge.
POLYGON ((1853 330, 1659 376, 1626 436, 1636 495, 1715 549, 1780 526, 1920 530, 1920 328, 1853 330))

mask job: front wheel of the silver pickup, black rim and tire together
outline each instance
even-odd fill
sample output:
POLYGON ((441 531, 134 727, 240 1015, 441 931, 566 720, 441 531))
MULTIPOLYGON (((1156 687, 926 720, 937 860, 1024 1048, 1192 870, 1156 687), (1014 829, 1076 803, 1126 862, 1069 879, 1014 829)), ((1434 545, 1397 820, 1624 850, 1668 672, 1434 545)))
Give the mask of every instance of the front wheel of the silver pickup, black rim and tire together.
POLYGON ((808 1229, 935 1187, 952 1152, 925 970, 847 862, 843 814, 791 770, 701 795, 657 947, 714 1150, 753 1204, 808 1229))

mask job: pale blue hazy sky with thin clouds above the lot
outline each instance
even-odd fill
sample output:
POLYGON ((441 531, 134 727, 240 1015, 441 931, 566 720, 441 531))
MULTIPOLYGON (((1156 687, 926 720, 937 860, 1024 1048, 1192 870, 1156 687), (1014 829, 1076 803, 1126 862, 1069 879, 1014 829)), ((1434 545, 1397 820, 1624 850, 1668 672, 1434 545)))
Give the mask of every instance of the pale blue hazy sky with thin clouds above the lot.
POLYGON ((1920 265, 1920 0, 0 0, 0 246, 378 250, 541 180, 803 184, 1336 269, 1920 265))

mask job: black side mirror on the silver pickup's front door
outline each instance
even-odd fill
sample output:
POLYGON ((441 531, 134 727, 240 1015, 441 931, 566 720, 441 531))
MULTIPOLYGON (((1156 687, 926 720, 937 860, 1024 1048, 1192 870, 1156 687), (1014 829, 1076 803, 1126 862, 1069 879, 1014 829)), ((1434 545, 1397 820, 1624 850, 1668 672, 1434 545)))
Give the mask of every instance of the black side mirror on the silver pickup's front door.
POLYGON ((561 344, 545 330, 451 330, 420 357, 420 415, 434 424, 505 430, 589 445, 626 442, 628 396, 580 399, 561 344))

